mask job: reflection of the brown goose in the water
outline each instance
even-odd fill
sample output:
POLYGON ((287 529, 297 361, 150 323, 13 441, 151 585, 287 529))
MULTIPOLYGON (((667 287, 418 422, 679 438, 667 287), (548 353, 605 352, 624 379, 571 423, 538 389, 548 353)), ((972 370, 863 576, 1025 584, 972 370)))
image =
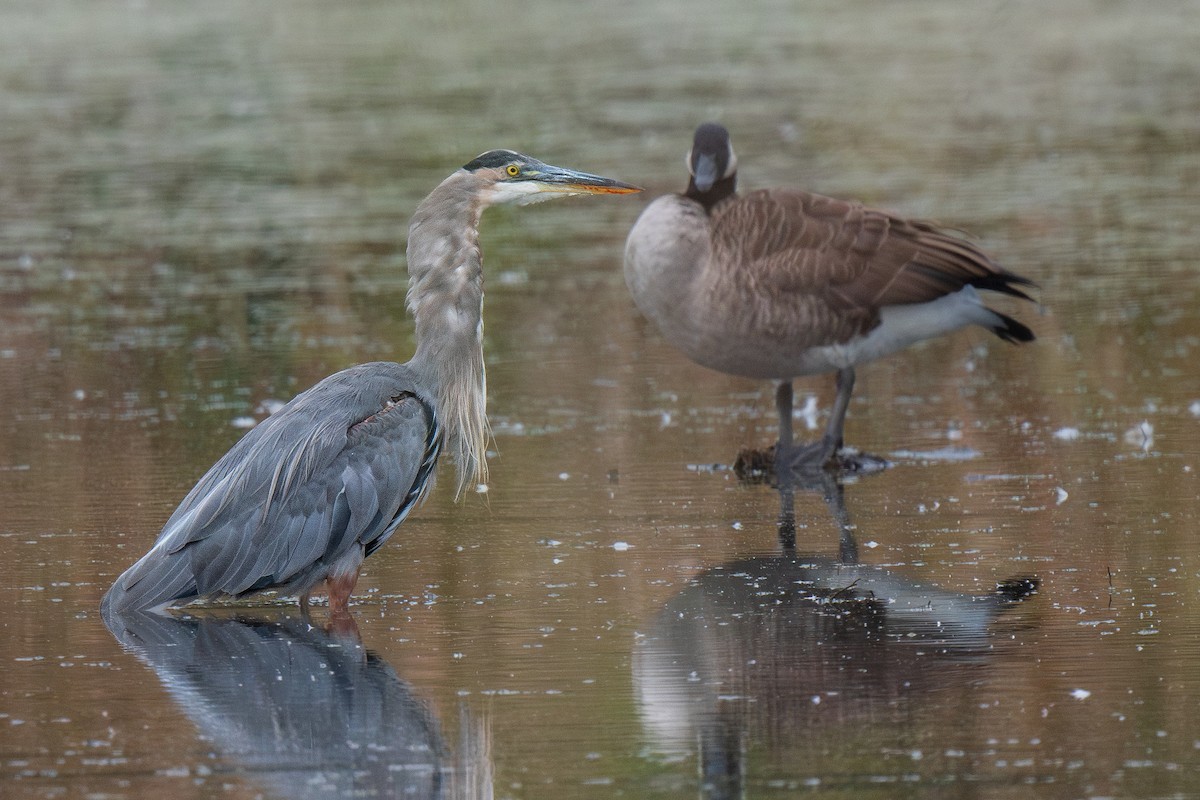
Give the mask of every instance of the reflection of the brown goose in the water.
MULTIPOLYGON (((751 742, 760 752, 823 752, 816 774, 828 775, 854 769, 829 760, 839 741, 847 754, 870 754, 856 748, 872 736, 878 747, 902 742, 922 703, 967 708, 942 693, 968 693, 991 661, 997 618, 1037 589, 1037 579, 1018 578, 960 594, 860 564, 841 483, 818 476, 802 488, 820 492, 833 513, 838 557, 796 552, 785 486, 781 552, 703 572, 634 648, 652 748, 698 758, 703 798, 744 795, 751 742)), ((790 758, 793 776, 796 766, 790 758)))

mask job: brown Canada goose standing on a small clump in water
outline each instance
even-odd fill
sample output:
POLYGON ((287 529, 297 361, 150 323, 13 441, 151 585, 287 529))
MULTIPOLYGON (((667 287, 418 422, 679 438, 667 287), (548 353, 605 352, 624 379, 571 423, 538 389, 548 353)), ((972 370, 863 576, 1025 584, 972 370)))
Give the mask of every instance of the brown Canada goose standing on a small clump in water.
POLYGON ((838 464, 854 366, 980 325, 1006 342, 1033 332, 976 289, 1030 300, 1033 285, 930 222, 792 188, 738 196, 730 133, 696 130, 683 194, 652 203, 625 243, 642 313, 706 367, 779 381, 776 468, 838 464), (792 446, 792 379, 838 373, 820 441, 792 446))

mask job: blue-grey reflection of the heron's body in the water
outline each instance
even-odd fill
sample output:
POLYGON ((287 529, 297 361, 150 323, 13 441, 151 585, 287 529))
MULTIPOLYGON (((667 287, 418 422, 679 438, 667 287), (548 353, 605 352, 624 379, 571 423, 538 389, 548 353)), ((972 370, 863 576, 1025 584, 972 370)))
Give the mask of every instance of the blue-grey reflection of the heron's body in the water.
POLYGON ((109 616, 238 771, 278 798, 464 796, 430 709, 354 636, 306 619, 109 616), (454 784, 454 786, 451 786, 454 784))

